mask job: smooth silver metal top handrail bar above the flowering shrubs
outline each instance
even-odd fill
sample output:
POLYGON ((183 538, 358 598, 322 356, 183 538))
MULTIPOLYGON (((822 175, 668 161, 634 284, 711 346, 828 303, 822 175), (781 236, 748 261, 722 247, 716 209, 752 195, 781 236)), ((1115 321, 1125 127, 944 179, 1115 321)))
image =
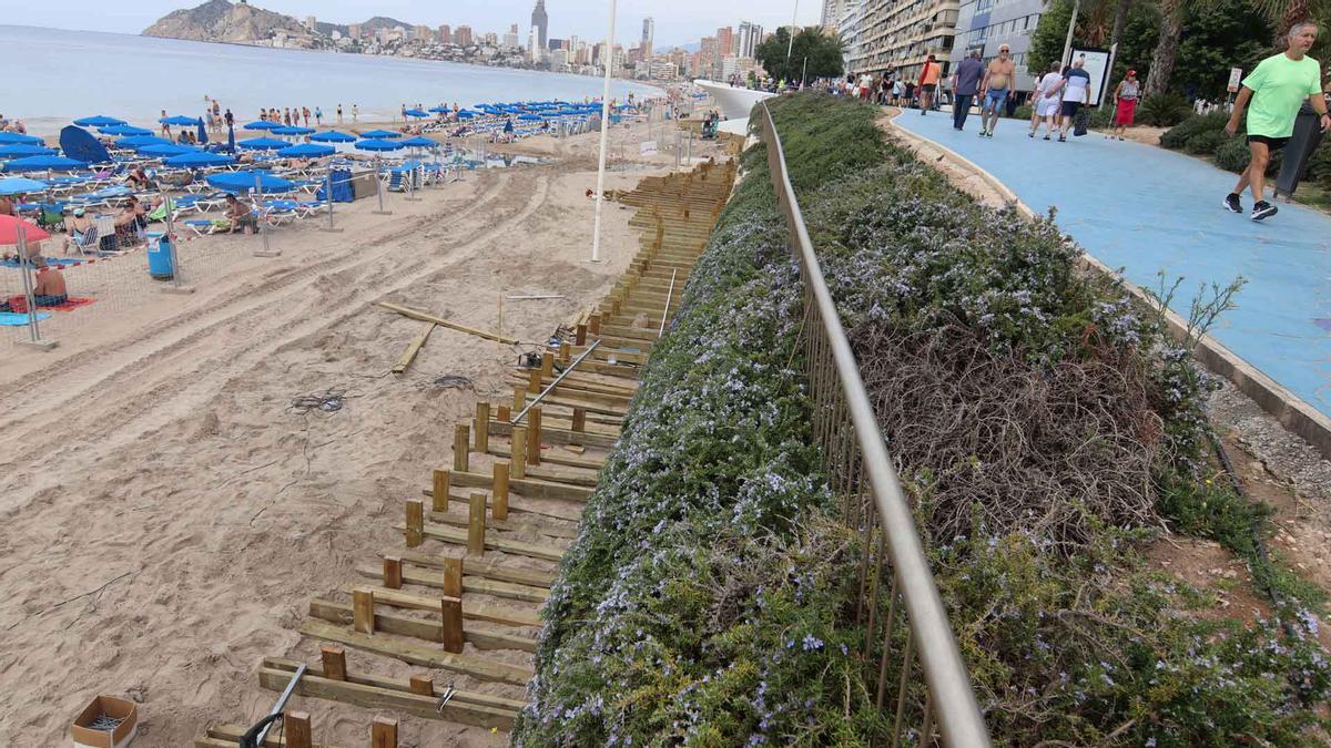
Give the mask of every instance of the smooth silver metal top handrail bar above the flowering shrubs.
MULTIPOLYGON (((925 723, 929 721, 932 705, 937 711, 937 724, 945 745, 988 747, 990 744, 989 731, 980 713, 970 676, 957 648, 957 639, 942 607, 938 587, 934 584, 933 571, 929 568, 924 544, 916 530, 910 504, 901 490, 897 471, 874 418, 873 406, 869 403, 864 379, 860 377, 860 366, 856 363, 851 342, 845 337, 841 318, 832 301, 832 293, 828 290, 817 256, 813 253, 813 244, 809 240, 808 228, 804 225, 804 216, 795 197, 795 189, 791 186, 781 137, 776 132, 776 122, 772 120, 767 104, 759 102, 759 106, 763 109, 763 134, 767 141, 772 186, 776 189, 777 200, 785 213, 787 226, 791 230, 791 249, 804 270, 801 274, 805 281, 807 303, 808 295, 812 295, 813 309, 811 311, 816 311, 821 317, 821 333, 825 337, 825 345, 831 349, 835 377, 840 382, 844 409, 853 425, 855 439, 862 459, 862 471, 873 494, 888 558, 896 575, 894 588, 900 590, 905 604, 910 636, 906 639, 904 667, 909 668, 909 651, 913 643, 918 648, 920 664, 929 691, 925 723)), ((866 546, 865 552, 869 551, 870 548, 866 546)), ((888 618, 890 627, 890 612, 888 618)), ((905 685, 906 677, 902 676, 901 681, 905 685)), ((904 697, 904 689, 901 697, 904 697)), ((900 703, 898 700, 898 720, 900 703)), ((926 728, 926 731, 932 731, 932 728, 926 728)), ((926 741, 928 737, 921 740, 922 744, 926 741)))

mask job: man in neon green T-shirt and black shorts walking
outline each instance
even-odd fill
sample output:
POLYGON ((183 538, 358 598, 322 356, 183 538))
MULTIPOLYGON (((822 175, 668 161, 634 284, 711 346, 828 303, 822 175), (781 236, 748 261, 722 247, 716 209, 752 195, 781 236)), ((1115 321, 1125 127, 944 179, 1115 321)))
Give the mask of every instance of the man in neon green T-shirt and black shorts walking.
POLYGON ((1242 213, 1239 196, 1246 188, 1252 188, 1252 220, 1260 221, 1275 216, 1276 208, 1262 198, 1266 186, 1266 166, 1271 152, 1284 148, 1294 134, 1294 117, 1299 113, 1303 100, 1311 98, 1312 109, 1322 114, 1322 132, 1331 126, 1327 102, 1322 97, 1322 67, 1308 57, 1308 49, 1318 40, 1315 23, 1295 24, 1288 33, 1288 48, 1274 57, 1267 57, 1243 79, 1243 88, 1234 101, 1234 113, 1225 125, 1225 132, 1234 134, 1239 129, 1239 118, 1248 106, 1247 141, 1251 160, 1239 176, 1234 192, 1225 197, 1225 209, 1242 213))

